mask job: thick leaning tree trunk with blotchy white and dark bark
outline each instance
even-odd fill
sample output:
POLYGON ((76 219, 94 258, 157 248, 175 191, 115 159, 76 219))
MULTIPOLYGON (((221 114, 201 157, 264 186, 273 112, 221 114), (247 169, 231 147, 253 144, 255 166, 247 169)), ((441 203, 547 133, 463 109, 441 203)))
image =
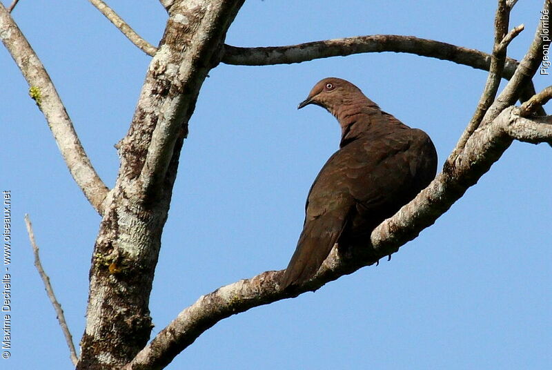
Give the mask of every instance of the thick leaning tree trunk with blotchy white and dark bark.
POLYGON ((90 269, 77 369, 118 369, 146 345, 161 232, 199 88, 219 64, 238 1, 175 1, 152 59, 108 195, 90 269))

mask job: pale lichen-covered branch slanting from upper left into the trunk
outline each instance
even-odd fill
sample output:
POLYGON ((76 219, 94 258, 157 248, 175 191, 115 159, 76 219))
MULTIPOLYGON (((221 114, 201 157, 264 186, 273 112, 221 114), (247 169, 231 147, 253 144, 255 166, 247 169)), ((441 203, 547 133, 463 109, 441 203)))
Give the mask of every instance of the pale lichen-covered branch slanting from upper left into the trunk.
POLYGON ((73 179, 96 211, 103 213, 102 202, 108 194, 108 188, 90 164, 48 72, 1 3, 0 38, 27 80, 30 95, 46 117, 73 179))

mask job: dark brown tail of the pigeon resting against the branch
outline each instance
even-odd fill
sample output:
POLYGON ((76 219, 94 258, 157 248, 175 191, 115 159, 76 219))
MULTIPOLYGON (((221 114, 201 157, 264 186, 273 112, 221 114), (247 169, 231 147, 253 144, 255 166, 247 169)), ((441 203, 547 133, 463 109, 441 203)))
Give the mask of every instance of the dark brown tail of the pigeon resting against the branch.
POLYGON ((326 220, 318 218, 305 224, 297 242, 297 249, 282 277, 283 289, 310 280, 322 266, 341 235, 344 220, 331 215, 324 215, 321 218, 326 220))

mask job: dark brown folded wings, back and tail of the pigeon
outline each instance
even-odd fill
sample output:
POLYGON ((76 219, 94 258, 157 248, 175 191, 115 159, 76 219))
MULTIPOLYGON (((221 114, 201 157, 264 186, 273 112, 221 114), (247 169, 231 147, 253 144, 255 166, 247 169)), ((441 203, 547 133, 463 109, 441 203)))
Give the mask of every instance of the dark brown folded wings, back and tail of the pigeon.
POLYGON ((427 137, 404 125, 373 130, 328 159, 311 186, 304 228, 284 274, 284 287, 313 277, 344 228, 353 236, 369 235, 433 179, 435 168, 433 173, 426 168, 432 161, 424 153, 433 144, 429 141, 428 149, 420 135, 427 137), (422 176, 423 184, 420 171, 428 173, 422 176))

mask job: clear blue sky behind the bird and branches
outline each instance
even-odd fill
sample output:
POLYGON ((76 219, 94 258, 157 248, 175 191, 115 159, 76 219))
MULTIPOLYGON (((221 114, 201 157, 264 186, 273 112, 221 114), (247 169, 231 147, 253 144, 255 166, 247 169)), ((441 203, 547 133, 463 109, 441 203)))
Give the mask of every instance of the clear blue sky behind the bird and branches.
MULTIPOLYGON (((8 4, 7 0, 3 3, 8 4)), ((109 1, 157 44, 155 0, 109 1)), ((397 34, 491 50, 496 1, 249 0, 235 46, 397 34)), ((519 1, 526 30, 542 1, 519 1)), ((20 1, 14 17, 46 65, 92 163, 110 186, 113 145, 128 130, 150 57, 88 1, 20 1)), ((552 72, 552 71, 551 71, 552 72)), ((431 135, 440 166, 469 121, 486 73, 393 53, 291 66, 221 65, 201 88, 151 296, 155 335, 204 293, 283 269, 309 186, 337 149, 323 109, 296 110, 322 77, 357 84, 431 135)), ((550 85, 540 77, 540 90, 550 85)), ((78 344, 99 216, 70 177, 43 116, 0 48, 0 187, 12 191, 12 358, 2 369, 70 369, 55 313, 32 265, 30 213, 43 266, 78 344), (7 365, 7 367, 6 367, 7 365)), ((549 112, 552 107, 548 108, 549 112)), ((552 148, 514 143, 451 210, 393 255, 316 293, 242 313, 201 335, 168 369, 544 369, 552 363, 552 148)))

